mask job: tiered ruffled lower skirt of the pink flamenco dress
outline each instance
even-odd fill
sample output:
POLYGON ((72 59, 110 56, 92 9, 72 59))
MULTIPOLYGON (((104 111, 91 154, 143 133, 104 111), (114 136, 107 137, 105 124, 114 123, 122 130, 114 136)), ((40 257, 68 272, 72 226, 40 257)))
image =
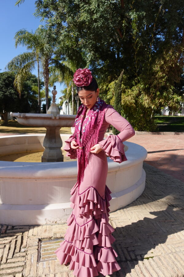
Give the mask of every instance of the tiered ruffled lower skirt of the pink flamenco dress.
POLYGON ((111 246, 115 239, 108 216, 110 193, 106 186, 102 198, 91 186, 79 194, 77 183, 71 190, 73 211, 67 219, 69 227, 55 253, 60 264, 70 263, 69 269, 76 277, 108 275, 120 269, 111 246))

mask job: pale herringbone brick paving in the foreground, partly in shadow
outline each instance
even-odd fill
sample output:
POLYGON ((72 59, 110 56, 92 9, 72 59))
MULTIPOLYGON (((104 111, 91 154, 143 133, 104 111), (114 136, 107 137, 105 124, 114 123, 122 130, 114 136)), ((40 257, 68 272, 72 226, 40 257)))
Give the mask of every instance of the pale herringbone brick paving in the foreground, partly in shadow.
MULTIPOLYGON (((121 266, 111 276, 182 277, 184 183, 146 163, 144 169, 144 193, 126 208, 110 213, 113 247, 121 266)), ((0 276, 73 276, 54 253, 66 229, 66 224, 0 225, 0 276)))

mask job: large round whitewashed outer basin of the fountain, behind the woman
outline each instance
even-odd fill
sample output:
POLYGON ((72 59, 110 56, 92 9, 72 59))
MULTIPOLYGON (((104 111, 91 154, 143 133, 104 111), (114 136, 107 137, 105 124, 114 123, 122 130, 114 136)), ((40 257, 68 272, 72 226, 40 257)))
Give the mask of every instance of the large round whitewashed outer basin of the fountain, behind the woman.
MULTIPOLYGON (((61 134, 63 140, 70 134, 61 134)), ((0 153, 41 151, 44 134, 0 137, 0 153)), ((107 186, 112 191, 110 211, 138 198, 145 187, 144 147, 125 142, 127 161, 108 159, 107 186)), ((65 223, 72 209, 70 190, 77 180, 77 162, 23 163, 0 161, 0 223, 36 225, 65 223)))

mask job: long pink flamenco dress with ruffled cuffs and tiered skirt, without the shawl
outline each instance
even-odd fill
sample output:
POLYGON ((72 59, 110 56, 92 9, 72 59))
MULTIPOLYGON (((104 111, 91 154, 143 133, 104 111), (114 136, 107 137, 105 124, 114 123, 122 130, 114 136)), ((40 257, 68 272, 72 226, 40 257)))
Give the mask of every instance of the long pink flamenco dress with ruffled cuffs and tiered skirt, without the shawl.
MULTIPOLYGON (((86 115, 83 124, 87 120, 86 115)), ((69 227, 64 241, 55 251, 59 263, 70 263, 69 269, 76 277, 93 277, 99 273, 105 276, 121 269, 116 261, 117 253, 111 246, 115 239, 112 235, 114 228, 109 224, 109 201, 112 197, 105 184, 108 172, 106 155, 117 163, 126 161, 122 142, 134 134, 130 123, 108 105, 98 135, 98 143, 103 150, 98 154, 91 153, 83 181, 71 189, 73 211, 67 219, 69 227), (103 140, 109 124, 120 133, 103 140)), ((76 141, 75 135, 66 140, 64 150, 71 159, 75 159, 77 151, 70 146, 72 140, 76 141)))

